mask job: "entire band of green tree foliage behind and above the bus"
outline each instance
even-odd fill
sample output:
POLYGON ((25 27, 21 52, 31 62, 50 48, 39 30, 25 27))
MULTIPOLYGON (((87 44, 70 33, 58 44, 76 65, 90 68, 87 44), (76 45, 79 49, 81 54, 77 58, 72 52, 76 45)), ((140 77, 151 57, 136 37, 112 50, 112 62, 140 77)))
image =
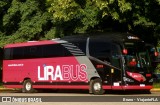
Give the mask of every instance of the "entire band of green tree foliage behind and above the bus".
POLYGON ((160 39, 159 8, 160 0, 1 0, 0 46, 99 30, 160 39))

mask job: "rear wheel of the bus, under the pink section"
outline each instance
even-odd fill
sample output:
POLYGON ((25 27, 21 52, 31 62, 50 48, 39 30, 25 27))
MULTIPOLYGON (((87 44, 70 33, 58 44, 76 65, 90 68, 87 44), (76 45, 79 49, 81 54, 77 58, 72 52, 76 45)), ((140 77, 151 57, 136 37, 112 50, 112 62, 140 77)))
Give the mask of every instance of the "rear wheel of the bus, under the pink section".
POLYGON ((34 89, 32 86, 32 81, 30 79, 24 80, 22 92, 23 93, 32 93, 33 91, 34 91, 34 89))

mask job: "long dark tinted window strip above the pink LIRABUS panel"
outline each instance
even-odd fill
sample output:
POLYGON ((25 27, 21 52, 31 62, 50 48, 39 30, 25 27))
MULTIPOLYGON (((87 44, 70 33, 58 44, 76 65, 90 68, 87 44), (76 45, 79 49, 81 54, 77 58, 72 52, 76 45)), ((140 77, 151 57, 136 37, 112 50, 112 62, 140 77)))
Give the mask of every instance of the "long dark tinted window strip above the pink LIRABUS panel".
POLYGON ((72 56, 71 53, 60 44, 6 48, 4 52, 4 59, 32 59, 72 56))

